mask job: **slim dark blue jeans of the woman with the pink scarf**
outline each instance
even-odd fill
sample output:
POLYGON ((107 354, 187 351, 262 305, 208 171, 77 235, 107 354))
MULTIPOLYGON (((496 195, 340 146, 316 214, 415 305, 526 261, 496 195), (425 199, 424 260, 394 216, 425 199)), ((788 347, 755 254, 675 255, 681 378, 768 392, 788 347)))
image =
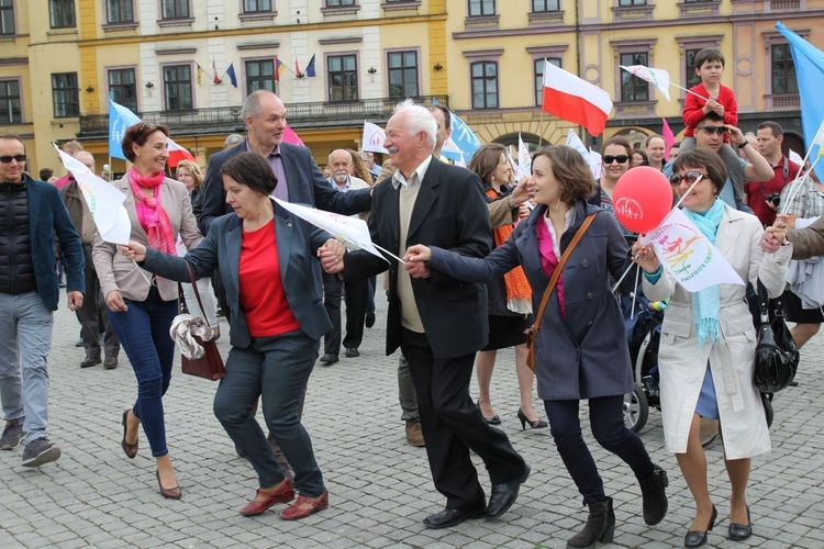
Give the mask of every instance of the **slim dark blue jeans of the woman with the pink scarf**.
POLYGON ((132 412, 141 419, 152 447, 152 456, 165 456, 166 425, 163 395, 171 381, 175 341, 169 337, 171 321, 177 316, 177 300, 163 301, 152 288, 146 301, 123 300, 129 311, 109 311, 109 324, 120 339, 137 378, 137 402, 132 412))

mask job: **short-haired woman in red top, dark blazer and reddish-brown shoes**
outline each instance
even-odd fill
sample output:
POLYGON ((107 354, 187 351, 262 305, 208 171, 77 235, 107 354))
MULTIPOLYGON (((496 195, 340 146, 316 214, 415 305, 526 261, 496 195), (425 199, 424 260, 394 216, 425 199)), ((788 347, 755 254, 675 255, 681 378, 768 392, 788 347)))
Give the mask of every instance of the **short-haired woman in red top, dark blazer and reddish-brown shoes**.
POLYGON ((345 248, 327 233, 292 216, 269 195, 277 179, 266 160, 240 153, 221 167, 226 202, 234 209, 216 219, 209 235, 185 258, 131 242, 126 258, 171 280, 188 280, 186 261, 197 278, 221 271, 231 304, 226 377, 214 396, 214 414, 255 468, 259 490, 241 509, 259 515, 276 503, 298 500, 280 516, 302 518, 329 506, 329 491, 300 423, 300 404, 318 359, 320 338, 332 327, 320 285, 310 276, 316 256, 345 248), (294 468, 294 485, 275 459, 254 406, 263 400, 266 425, 294 468))

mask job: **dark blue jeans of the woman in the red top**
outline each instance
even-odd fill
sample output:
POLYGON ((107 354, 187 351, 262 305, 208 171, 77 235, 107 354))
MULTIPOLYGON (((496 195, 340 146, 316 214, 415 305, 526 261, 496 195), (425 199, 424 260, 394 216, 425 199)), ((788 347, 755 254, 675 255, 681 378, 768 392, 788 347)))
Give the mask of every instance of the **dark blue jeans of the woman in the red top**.
POLYGON ((285 478, 283 470, 255 419, 261 397, 266 426, 294 469, 294 485, 308 497, 326 489, 314 458, 312 440, 300 423, 300 410, 314 368, 320 341, 296 330, 274 337, 253 337, 246 349, 232 347, 226 377, 214 395, 214 415, 257 472, 260 488, 285 478))

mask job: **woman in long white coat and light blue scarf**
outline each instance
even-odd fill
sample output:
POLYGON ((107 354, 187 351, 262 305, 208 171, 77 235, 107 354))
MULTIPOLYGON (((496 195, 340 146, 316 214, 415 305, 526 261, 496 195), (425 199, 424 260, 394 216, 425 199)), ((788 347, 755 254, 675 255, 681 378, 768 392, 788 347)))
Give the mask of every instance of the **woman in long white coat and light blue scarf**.
MULTIPOLYGON (((760 242, 770 236, 758 219, 719 199, 727 179, 721 158, 708 148, 694 148, 678 156, 673 172, 671 182, 682 197, 686 216, 743 281, 756 285, 760 280, 770 298, 781 295, 792 246, 765 254, 760 242)), ((772 231, 779 242, 784 240, 783 225, 772 231)), ((753 534, 746 500, 750 458, 769 451, 770 438, 761 396, 753 383, 756 334, 746 285, 723 283, 689 292, 671 270, 662 269, 650 244, 636 243, 633 256, 644 269, 645 295, 671 300, 658 360, 667 449, 676 453, 697 507, 684 547, 706 544, 706 533, 717 517, 699 437, 701 417, 717 418, 721 426, 732 485, 730 539, 747 539, 753 534)))

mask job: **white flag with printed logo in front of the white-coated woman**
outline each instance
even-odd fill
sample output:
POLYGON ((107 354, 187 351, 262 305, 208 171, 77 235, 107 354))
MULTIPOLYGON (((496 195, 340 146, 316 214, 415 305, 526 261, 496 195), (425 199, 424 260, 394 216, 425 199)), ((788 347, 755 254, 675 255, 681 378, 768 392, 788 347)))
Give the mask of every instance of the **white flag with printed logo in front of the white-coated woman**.
POLYGON ((672 210, 643 242, 653 245, 664 270, 688 292, 716 284, 744 285, 733 266, 679 209, 672 210))

